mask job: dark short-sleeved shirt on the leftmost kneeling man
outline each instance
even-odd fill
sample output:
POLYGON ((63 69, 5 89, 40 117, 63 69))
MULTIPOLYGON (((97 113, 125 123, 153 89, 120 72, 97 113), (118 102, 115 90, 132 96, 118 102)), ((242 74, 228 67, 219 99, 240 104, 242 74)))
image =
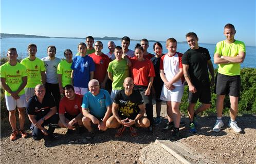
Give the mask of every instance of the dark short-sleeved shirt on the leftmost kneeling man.
POLYGON ((52 95, 45 94, 42 104, 34 95, 28 100, 26 111, 27 114, 43 117, 50 111, 50 108, 55 106, 56 104, 52 95))

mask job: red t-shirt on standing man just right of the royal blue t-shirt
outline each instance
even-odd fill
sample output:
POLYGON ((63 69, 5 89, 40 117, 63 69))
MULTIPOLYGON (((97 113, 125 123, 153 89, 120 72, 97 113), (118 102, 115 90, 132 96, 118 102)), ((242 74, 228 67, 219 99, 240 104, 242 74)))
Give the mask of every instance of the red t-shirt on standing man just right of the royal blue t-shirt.
POLYGON ((92 53, 89 54, 89 56, 93 58, 95 63, 94 78, 97 79, 101 84, 107 73, 109 58, 104 53, 102 53, 100 56, 97 56, 95 53, 92 53))

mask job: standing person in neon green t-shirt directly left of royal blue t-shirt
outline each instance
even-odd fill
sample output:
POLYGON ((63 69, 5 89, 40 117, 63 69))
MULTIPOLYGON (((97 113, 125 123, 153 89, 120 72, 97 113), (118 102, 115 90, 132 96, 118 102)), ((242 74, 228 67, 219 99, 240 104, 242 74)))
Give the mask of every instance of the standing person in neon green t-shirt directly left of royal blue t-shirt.
POLYGON ((59 82, 59 88, 60 93, 64 93, 64 87, 66 85, 71 85, 71 65, 72 65, 72 51, 70 49, 66 49, 64 51, 65 60, 61 60, 61 62, 58 65, 57 68, 57 74, 58 74, 58 82, 59 82))

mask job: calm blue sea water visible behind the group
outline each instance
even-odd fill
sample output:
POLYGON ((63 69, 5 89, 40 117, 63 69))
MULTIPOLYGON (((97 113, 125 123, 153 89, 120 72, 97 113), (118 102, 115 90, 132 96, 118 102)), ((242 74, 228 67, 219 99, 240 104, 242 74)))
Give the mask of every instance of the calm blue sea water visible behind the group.
MULTIPOLYGON (((96 41, 96 40, 95 40, 96 41)), ((109 40, 101 40, 103 43, 103 53, 107 53, 107 42, 109 40)), ((56 56, 59 58, 63 58, 63 52, 65 49, 70 49, 73 54, 77 53, 77 45, 80 42, 85 42, 84 39, 69 39, 69 38, 2 38, 1 39, 1 55, 3 55, 3 52, 5 52, 10 47, 15 47, 17 49, 17 52, 19 56, 22 56, 23 58, 27 56, 27 46, 30 43, 36 44, 38 46, 38 52, 36 53, 36 56, 39 58, 43 58, 47 56, 47 47, 49 45, 54 45, 57 48, 56 56)), ((114 40, 116 46, 121 46, 121 40, 114 40)), ((132 41, 130 44, 130 49, 134 50, 135 45, 139 43, 136 41, 132 41)), ((152 54, 154 54, 153 51, 153 42, 149 43, 149 49, 148 51, 152 54)), ((163 53, 167 53, 167 49, 165 48, 165 42, 161 42, 163 46, 163 53)), ((213 53, 215 49, 214 44, 199 44, 200 47, 205 47, 209 50, 210 55, 212 57, 213 61, 213 53)), ((188 44, 186 43, 179 43, 177 45, 177 51, 184 53, 189 49, 188 44)), ((214 65, 214 64, 213 64, 214 65)), ((242 67, 253 67, 256 68, 256 47, 250 47, 246 46, 246 57, 244 63, 241 65, 242 67)), ((214 65, 214 68, 216 68, 217 65, 214 65)))

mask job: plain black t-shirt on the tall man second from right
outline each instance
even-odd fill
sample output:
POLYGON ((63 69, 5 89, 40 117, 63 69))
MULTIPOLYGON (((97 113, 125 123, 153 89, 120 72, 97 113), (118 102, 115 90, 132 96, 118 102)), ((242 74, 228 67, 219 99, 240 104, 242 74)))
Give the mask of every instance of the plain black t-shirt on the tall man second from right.
POLYGON ((211 59, 206 48, 189 49, 182 56, 182 64, 189 65, 189 75, 195 87, 209 86, 207 61, 211 59))

